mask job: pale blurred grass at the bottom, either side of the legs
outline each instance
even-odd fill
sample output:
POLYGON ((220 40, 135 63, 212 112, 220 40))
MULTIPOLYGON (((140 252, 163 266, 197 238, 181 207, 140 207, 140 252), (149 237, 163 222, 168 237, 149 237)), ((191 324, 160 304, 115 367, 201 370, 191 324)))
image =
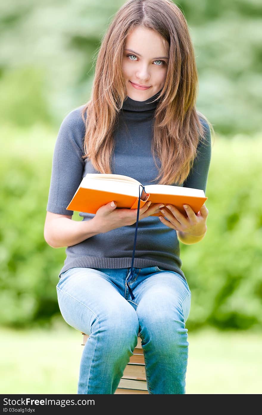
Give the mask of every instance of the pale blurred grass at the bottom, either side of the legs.
MULTIPOLYGON (((0 328, 1 393, 76 394, 82 335, 68 327, 15 331, 0 328)), ((188 332, 187 394, 258 394, 262 389, 262 334, 188 332)))

